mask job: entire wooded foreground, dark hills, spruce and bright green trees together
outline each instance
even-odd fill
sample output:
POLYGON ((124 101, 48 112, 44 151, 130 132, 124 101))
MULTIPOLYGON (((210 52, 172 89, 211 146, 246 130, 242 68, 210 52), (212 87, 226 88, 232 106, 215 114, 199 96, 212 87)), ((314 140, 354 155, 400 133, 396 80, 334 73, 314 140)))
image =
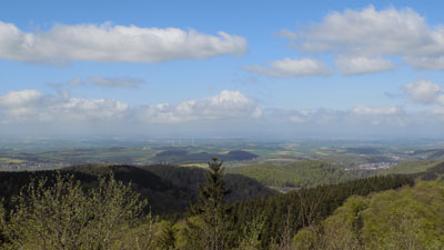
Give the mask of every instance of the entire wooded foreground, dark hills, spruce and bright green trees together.
POLYGON ((89 164, 1 172, 1 248, 440 249, 444 242, 444 163, 280 194, 224 171, 214 159, 208 169, 89 164), (394 233, 400 227, 404 238, 394 233), (391 243, 400 240, 405 244, 391 243))

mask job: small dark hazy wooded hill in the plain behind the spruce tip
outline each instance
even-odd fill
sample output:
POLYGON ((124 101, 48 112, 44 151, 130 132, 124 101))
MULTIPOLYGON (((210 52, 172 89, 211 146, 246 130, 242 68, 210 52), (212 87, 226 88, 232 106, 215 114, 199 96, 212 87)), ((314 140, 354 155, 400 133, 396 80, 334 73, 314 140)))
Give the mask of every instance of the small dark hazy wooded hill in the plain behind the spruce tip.
POLYGON ((218 154, 208 152, 190 153, 185 150, 171 149, 157 153, 153 160, 159 162, 172 163, 198 163, 206 162, 211 158, 218 158, 224 161, 244 161, 252 160, 256 157, 256 154, 243 150, 235 150, 224 154, 218 154))

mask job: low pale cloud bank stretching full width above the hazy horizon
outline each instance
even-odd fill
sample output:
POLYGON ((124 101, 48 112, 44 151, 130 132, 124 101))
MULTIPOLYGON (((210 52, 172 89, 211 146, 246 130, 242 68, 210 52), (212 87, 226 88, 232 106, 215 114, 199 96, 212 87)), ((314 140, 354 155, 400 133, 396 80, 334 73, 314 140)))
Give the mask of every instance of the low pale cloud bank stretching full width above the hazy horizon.
POLYGON ((122 131, 144 133, 153 128, 157 132, 164 133, 186 133, 186 129, 191 129, 198 134, 203 130, 209 133, 213 130, 230 130, 238 134, 251 131, 293 134, 297 131, 370 133, 375 130, 391 133, 398 132, 400 129, 412 132, 412 128, 425 128, 424 126, 442 128, 442 89, 437 90, 430 82, 415 82, 407 83, 405 91, 411 94, 412 100, 421 103, 432 97, 436 107, 422 112, 407 111, 403 107, 363 104, 345 110, 263 109, 254 99, 235 90, 223 90, 212 97, 178 103, 131 106, 113 99, 77 98, 61 93, 54 96, 27 89, 0 96, 0 128, 3 132, 21 133, 30 129, 38 132, 56 129, 69 132, 87 128, 94 133, 108 131, 117 134, 122 131))

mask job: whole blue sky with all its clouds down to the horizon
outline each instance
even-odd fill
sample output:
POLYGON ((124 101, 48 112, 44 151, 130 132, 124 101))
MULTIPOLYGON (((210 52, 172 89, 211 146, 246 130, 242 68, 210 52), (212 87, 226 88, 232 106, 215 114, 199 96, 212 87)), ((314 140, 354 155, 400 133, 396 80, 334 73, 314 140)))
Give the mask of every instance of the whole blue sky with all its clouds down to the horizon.
POLYGON ((7 1, 0 134, 444 138, 442 1, 7 1))

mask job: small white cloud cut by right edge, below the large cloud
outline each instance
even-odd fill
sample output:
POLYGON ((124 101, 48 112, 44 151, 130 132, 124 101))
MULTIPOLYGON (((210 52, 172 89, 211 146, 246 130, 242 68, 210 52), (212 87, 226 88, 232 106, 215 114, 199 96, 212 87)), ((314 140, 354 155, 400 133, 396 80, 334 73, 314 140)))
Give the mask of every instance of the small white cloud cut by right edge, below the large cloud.
POLYGON ((444 106, 444 89, 436 83, 421 80, 406 83, 403 89, 414 102, 444 106))

